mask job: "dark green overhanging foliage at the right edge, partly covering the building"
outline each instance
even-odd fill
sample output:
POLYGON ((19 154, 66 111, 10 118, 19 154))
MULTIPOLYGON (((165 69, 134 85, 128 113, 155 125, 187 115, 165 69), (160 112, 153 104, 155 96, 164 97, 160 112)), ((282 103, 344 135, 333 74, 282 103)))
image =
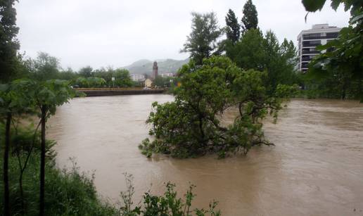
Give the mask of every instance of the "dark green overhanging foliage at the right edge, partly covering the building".
MULTIPOLYGON (((307 11, 314 12, 325 2, 304 0, 303 4, 307 11)), ((363 2, 331 1, 334 10, 340 4, 350 11, 350 25, 340 31, 338 39, 317 47, 325 52, 310 63, 305 80, 315 96, 363 102, 363 2)))

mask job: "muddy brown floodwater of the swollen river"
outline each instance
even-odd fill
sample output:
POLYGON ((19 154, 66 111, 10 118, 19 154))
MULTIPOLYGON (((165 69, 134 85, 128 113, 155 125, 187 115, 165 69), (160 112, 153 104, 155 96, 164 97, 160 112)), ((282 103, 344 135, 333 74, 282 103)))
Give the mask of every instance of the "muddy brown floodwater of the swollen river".
POLYGON ((222 215, 363 215, 363 104, 357 101, 294 99, 265 134, 276 146, 217 160, 215 155, 177 160, 148 159, 137 146, 153 101, 169 95, 73 99, 49 122, 58 141, 57 164, 74 157, 94 172, 98 193, 117 202, 126 189, 122 173, 134 175, 135 202, 144 191, 163 193, 165 182, 183 195, 196 185, 194 207, 219 201, 222 215))

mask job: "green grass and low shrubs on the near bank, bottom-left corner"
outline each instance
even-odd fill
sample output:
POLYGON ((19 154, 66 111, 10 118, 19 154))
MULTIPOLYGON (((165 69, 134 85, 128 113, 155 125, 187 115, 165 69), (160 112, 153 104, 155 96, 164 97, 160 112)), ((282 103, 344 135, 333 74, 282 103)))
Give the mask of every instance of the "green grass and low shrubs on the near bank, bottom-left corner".
MULTIPOLYGON (((20 138, 20 137, 19 137, 20 138)), ((36 150, 36 153, 39 153, 36 150)), ((40 160, 33 154, 23 179, 24 208, 20 205, 18 184, 18 159, 13 155, 9 161, 12 215, 39 215, 39 167, 40 160)), ((25 155, 22 155, 25 160, 25 155)), ((1 160, 1 159, 0 159, 1 160)), ((1 161, 2 163, 2 161, 1 161)), ((1 170, 2 171, 2 170, 1 170)), ((0 174, 2 176, 2 172, 0 174)), ((4 186, 0 183, 1 193, 4 186)), ((72 170, 58 170, 52 160, 46 164, 45 215, 115 215, 115 208, 102 202, 96 193, 93 178, 89 174, 72 170)), ((4 196, 0 196, 0 210, 4 208, 4 196)))

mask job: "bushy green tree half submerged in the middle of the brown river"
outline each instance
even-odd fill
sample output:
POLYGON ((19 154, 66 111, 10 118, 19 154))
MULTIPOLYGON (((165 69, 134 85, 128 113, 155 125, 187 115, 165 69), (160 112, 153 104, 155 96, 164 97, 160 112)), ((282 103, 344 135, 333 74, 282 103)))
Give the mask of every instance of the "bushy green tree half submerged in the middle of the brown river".
POLYGON ((262 120, 269 114, 276 120, 281 102, 293 87, 279 85, 273 95, 263 86, 265 72, 243 71, 227 57, 205 58, 203 65, 192 61, 179 71, 181 86, 175 100, 153 103, 147 123, 155 140, 145 139, 139 148, 144 155, 170 154, 189 158, 206 153, 248 153, 251 147, 266 144, 262 120), (222 115, 238 110, 231 125, 222 124, 222 115))

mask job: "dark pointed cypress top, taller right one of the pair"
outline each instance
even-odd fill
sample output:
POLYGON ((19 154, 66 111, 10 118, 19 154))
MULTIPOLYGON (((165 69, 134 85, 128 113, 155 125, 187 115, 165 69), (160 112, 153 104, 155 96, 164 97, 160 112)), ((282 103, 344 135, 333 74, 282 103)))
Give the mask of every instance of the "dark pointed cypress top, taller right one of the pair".
POLYGON ((252 0, 247 0, 246 4, 243 6, 242 24, 243 32, 250 29, 257 29, 257 10, 256 6, 252 3, 252 0))

